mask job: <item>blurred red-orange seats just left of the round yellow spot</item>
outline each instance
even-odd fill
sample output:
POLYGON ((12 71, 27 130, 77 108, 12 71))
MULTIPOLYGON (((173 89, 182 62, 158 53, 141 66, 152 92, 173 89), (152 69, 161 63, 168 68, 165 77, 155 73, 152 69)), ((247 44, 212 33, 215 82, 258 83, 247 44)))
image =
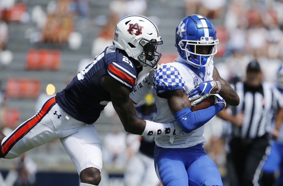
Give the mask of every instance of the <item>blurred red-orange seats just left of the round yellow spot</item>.
POLYGON ((36 99, 40 93, 40 81, 29 78, 9 78, 6 92, 7 97, 36 99))

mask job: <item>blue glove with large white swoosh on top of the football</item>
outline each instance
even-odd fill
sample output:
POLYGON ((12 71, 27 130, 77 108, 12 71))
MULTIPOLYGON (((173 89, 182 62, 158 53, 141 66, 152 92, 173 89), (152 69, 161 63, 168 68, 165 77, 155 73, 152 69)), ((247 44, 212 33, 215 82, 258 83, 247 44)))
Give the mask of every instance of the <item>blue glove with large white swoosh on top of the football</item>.
POLYGON ((216 86, 216 83, 219 86, 218 91, 216 91, 216 93, 218 93, 221 89, 220 83, 218 81, 204 81, 201 82, 196 88, 192 89, 188 98, 190 99, 190 101, 194 101, 205 94, 210 94, 210 91, 216 86))

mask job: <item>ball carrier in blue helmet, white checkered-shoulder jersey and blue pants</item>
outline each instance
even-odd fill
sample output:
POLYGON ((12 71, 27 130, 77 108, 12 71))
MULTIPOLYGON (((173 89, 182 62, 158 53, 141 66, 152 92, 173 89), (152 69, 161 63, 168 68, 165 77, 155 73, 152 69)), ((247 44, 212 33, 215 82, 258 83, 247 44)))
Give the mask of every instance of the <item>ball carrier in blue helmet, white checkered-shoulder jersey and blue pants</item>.
POLYGON ((157 108, 153 121, 177 121, 182 133, 155 137, 156 174, 164 186, 223 185, 216 164, 202 147, 204 125, 226 102, 238 105, 239 96, 213 66, 218 39, 209 19, 187 16, 177 25, 175 35, 178 57, 160 65, 153 76, 157 108), (188 97, 198 103, 211 95, 217 95, 215 104, 191 111, 188 97))

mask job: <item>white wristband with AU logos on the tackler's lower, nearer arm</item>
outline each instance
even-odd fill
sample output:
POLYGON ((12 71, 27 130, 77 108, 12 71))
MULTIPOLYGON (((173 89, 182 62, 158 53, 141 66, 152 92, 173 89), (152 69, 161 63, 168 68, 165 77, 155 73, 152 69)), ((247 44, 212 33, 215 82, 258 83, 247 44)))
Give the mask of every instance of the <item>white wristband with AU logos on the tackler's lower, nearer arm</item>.
POLYGON ((179 134, 180 127, 177 123, 155 123, 146 121, 145 129, 141 136, 173 136, 179 134))

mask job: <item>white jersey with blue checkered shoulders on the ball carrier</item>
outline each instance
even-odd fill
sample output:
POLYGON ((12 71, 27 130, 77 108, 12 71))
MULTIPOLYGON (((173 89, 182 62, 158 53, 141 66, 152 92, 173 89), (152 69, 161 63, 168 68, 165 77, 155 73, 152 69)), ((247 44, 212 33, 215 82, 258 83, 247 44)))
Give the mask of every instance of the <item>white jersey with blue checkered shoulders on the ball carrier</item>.
MULTIPOLYGON (((162 98, 162 92, 183 89, 188 96, 192 89, 204 81, 213 80, 213 63, 210 66, 197 69, 176 58, 173 63, 161 64, 160 69, 156 70, 153 77, 153 87, 155 104, 157 108, 156 116, 153 118, 154 122, 170 123, 176 121, 171 114, 167 99, 162 98), (180 62, 176 62, 180 61, 180 62)), ((196 144, 204 144, 206 142, 203 136, 204 125, 200 128, 181 135, 173 136, 174 140, 170 140, 170 136, 156 136, 155 143, 163 148, 187 148, 196 144), (172 142, 170 142, 170 141, 172 142)), ((171 137, 172 138, 172 137, 171 137)))

